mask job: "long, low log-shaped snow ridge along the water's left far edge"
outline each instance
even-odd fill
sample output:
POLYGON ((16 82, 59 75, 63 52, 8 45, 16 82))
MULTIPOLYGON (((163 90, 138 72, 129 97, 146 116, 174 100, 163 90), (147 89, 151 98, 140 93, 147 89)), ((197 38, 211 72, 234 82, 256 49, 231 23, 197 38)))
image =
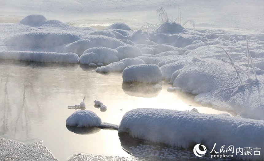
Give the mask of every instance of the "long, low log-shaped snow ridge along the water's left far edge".
POLYGON ((75 53, 54 53, 40 51, 0 51, 0 59, 32 62, 79 63, 75 53))

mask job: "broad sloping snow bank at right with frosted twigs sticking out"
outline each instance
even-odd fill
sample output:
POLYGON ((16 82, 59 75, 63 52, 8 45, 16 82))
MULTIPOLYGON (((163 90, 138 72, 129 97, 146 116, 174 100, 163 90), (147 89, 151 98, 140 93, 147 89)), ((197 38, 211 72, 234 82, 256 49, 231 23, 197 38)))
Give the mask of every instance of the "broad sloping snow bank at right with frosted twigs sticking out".
MULTIPOLYGON (((229 47, 228 52, 235 64, 247 71, 246 55, 233 47, 229 47)), ((243 80, 243 86, 241 86, 234 68, 230 64, 225 64, 221 61, 222 59, 229 61, 221 46, 202 46, 190 51, 187 55, 176 56, 174 62, 172 58, 161 60, 164 65, 160 69, 163 78, 170 80, 173 87, 196 94, 195 101, 203 106, 234 111, 244 118, 263 120, 263 80, 252 80, 254 78, 252 68, 250 68, 250 79, 239 70, 243 80)), ((260 72, 258 77, 263 77, 263 72, 260 72)))

